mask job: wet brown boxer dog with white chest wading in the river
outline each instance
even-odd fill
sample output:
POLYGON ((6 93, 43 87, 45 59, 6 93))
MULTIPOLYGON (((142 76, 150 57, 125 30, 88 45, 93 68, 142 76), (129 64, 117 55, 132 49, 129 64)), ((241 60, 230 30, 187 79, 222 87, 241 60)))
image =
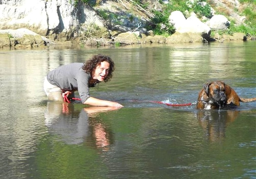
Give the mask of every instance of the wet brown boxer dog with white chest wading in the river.
POLYGON ((240 98, 235 90, 222 81, 213 81, 204 85, 199 92, 197 109, 220 109, 239 106, 241 102, 256 101, 256 98, 240 98))

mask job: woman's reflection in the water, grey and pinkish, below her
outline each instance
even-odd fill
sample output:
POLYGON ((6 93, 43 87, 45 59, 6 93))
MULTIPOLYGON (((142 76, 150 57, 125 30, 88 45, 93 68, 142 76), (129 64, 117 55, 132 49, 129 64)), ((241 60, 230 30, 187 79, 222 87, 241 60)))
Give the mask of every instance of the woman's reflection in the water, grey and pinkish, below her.
POLYGON ((83 107, 75 110, 71 103, 48 101, 45 112, 45 125, 49 132, 58 135, 67 144, 93 143, 97 148, 107 150, 110 145, 111 132, 100 120, 99 112, 116 110, 114 107, 83 107))

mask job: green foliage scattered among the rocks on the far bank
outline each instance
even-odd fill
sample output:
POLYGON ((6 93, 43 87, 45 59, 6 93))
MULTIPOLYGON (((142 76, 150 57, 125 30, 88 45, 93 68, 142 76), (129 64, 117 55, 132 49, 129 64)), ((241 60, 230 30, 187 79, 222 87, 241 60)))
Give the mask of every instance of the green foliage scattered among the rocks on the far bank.
MULTIPOLYGON (((87 5, 91 5, 92 0, 70 0, 75 5, 78 3, 84 3, 87 5)), ((133 0, 131 1, 133 5, 139 5, 144 9, 149 10, 150 1, 142 1, 142 0, 133 0)), ((189 16, 191 12, 197 14, 198 17, 208 17, 211 18, 211 6, 207 3, 211 3, 211 0, 171 0, 168 4, 164 4, 162 0, 159 0, 162 4, 162 10, 152 10, 154 14, 154 18, 151 19, 150 22, 147 23, 146 29, 152 29, 157 35, 171 35, 175 32, 175 28, 172 24, 169 24, 169 15, 173 11, 181 11, 185 16, 189 16)), ((250 35, 256 35, 256 13, 255 13, 255 0, 239 0, 240 3, 249 3, 252 6, 246 6, 243 10, 243 15, 246 16, 246 24, 247 25, 239 25, 236 26, 234 22, 230 24, 230 28, 225 31, 226 33, 232 34, 233 32, 243 32, 250 35)), ((217 10, 218 11, 218 10, 217 10)), ((116 21, 118 19, 118 14, 112 13, 110 11, 105 10, 97 10, 99 16, 101 16, 105 21, 109 21, 111 23, 115 21, 115 24, 118 24, 120 21, 116 21)), ((225 8, 217 12, 218 14, 223 14, 225 16, 229 16, 225 8)), ((130 17, 130 21, 133 21, 134 16, 130 17)), ((92 33, 90 31, 90 33, 92 33)), ((223 32, 224 33, 224 32, 223 32)))

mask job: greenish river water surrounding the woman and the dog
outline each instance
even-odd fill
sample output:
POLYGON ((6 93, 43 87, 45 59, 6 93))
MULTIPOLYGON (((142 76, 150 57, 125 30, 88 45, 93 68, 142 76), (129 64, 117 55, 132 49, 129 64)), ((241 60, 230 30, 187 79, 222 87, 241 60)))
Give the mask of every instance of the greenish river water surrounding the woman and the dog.
MULTIPOLYGON (((256 97, 256 41, 113 48, 0 49, 1 179, 256 178, 256 102, 197 110, 209 81, 256 97), (111 110, 48 101, 49 70, 108 54, 111 110)), ((78 97, 78 96, 77 96, 78 97)))

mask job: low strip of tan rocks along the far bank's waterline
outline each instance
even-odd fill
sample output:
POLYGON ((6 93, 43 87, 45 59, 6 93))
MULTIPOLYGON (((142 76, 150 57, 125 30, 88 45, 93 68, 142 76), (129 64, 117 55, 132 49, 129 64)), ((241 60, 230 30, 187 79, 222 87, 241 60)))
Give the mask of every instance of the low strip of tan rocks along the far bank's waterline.
POLYGON ((175 33, 171 36, 162 36, 141 34, 139 32, 125 32, 120 33, 115 37, 115 40, 110 38, 71 38, 69 41, 50 40, 45 36, 41 36, 28 29, 8 29, 0 30, 0 47, 11 49, 26 49, 26 48, 39 48, 44 46, 56 46, 56 45, 73 45, 73 46, 125 46, 132 44, 186 44, 186 43, 212 43, 212 42, 230 42, 230 41, 246 41, 253 40, 254 38, 247 38, 243 33, 233 33, 233 35, 215 34, 210 38, 210 41, 206 41, 197 33, 175 33))

